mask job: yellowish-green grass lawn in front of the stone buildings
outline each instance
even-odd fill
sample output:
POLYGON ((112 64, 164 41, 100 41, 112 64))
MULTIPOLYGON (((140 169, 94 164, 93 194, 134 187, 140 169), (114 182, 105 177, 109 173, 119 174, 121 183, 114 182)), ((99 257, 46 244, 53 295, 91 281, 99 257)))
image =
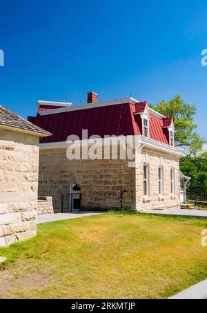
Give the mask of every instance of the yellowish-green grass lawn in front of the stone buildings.
POLYGON ((0 249, 1 298, 168 298, 207 278, 206 220, 104 213, 0 249))

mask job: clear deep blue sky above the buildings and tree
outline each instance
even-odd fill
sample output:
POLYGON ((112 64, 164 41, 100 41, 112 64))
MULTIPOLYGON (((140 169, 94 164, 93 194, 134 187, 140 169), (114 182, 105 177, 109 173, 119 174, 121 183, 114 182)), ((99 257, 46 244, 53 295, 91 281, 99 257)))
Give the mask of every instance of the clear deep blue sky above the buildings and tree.
POLYGON ((197 106, 207 137, 207 2, 204 0, 0 0, 0 103, 23 117, 37 100, 177 93, 197 106))

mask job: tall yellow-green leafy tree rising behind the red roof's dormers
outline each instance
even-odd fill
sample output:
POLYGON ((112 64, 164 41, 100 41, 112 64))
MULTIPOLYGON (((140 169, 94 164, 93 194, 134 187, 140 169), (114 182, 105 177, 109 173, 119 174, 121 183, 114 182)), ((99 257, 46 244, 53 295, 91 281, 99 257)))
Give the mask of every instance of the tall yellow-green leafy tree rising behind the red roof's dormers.
MULTIPOLYGON (((173 118, 175 141, 178 147, 186 150, 186 157, 201 153, 204 143, 207 143, 207 141, 197 132, 197 125, 195 124, 197 109, 195 105, 187 105, 181 96, 177 95, 168 102, 163 100, 155 106, 149 106, 164 116, 173 118)), ((184 161, 184 158, 181 161, 184 161)))

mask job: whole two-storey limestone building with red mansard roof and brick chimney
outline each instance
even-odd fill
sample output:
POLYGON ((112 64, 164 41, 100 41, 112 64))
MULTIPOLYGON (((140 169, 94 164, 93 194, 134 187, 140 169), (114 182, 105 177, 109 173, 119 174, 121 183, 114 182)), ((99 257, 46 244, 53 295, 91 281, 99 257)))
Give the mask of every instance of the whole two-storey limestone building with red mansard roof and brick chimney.
MULTIPOLYGON (((179 158, 184 152, 175 144, 172 118, 150 109, 147 102, 134 98, 98 102, 96 93, 88 93, 88 103, 76 107, 39 101, 37 116, 29 120, 53 134, 41 139, 39 195, 52 197, 56 212, 80 207, 179 208, 179 158), (83 145, 87 142, 83 129, 88 138, 139 138, 133 166, 120 155, 86 157, 88 147, 80 159, 69 160, 66 140, 75 135, 83 145)), ((111 150, 113 142, 109 145, 111 150)))

